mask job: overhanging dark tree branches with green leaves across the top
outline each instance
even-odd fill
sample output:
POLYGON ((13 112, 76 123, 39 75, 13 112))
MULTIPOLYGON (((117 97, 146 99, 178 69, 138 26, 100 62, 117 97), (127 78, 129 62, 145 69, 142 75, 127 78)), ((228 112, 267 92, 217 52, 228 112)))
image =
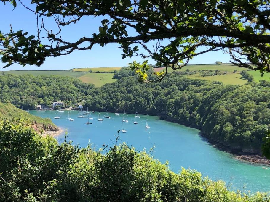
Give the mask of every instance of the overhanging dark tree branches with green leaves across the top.
MULTIPOLYGON (((12 2, 14 7, 22 3, 0 1, 12 2)), ((40 66, 49 56, 92 49, 95 44, 119 43, 123 58, 151 57, 157 65, 164 65, 166 71, 156 73, 158 80, 166 75, 167 68, 179 69, 195 56, 217 50, 229 53, 231 62, 239 67, 260 70, 262 74, 270 72, 269 0, 31 0, 29 3, 35 5, 32 11, 37 19, 54 17, 59 31, 45 30, 41 21, 36 36, 23 30, 0 32, 1 61, 7 63, 5 67, 13 63, 40 66), (74 42, 61 38, 61 27, 82 17, 96 16, 103 16, 98 33, 74 42), (41 43, 44 32, 48 44, 41 43)), ((145 63, 133 63, 132 67, 141 80, 148 79, 145 63)))

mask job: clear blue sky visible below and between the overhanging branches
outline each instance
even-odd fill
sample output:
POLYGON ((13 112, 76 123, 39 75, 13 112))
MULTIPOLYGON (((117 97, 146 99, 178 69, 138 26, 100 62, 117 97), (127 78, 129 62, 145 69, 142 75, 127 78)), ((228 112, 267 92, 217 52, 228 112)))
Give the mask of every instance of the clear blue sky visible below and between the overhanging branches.
MULTIPOLYGON (((25 9, 19 2, 13 11, 12 9, 11 4, 7 3, 7 5, 4 6, 0 3, 0 13, 3 17, 0 30, 7 33, 9 31, 9 25, 12 24, 14 31, 23 30, 28 31, 29 34, 36 35, 36 15, 25 9)), ((101 19, 101 17, 84 17, 75 25, 64 27, 61 32, 62 38, 72 42, 77 41, 83 36, 91 37, 92 33, 98 32, 101 19)), ((47 29, 55 30, 55 33, 57 32, 53 18, 45 17, 44 22, 47 29)), ((44 40, 42 43, 45 44, 46 41, 44 40)), ((1 70, 65 70, 82 67, 121 67, 127 66, 127 63, 133 60, 137 62, 143 61, 140 57, 122 59, 122 49, 117 48, 118 46, 118 44, 108 44, 104 47, 95 45, 92 50, 74 51, 66 56, 47 58, 41 67, 30 65, 22 67, 18 64, 13 64, 1 70)), ((154 60, 148 60, 149 63, 156 64, 154 60)), ((229 62, 229 60, 230 56, 223 54, 222 51, 212 51, 196 56, 189 64, 214 63, 215 61, 229 62)), ((3 66, 4 64, 0 62, 0 67, 2 68, 3 66)))

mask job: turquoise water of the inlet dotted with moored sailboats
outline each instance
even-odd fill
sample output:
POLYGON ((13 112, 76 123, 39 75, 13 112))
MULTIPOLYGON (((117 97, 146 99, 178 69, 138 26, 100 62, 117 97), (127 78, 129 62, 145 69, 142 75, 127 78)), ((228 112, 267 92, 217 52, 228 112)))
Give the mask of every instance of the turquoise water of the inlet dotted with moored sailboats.
MULTIPOLYGON (((40 117, 49 117, 58 126, 68 131, 68 140, 81 147, 92 143, 96 149, 102 144, 112 145, 115 143, 117 131, 122 129, 122 114, 116 116, 109 113, 110 119, 103 118, 98 121, 98 113, 91 113, 89 120, 93 124, 85 125, 87 118, 77 118, 78 111, 59 113, 58 111, 30 111, 31 114, 40 117), (54 119, 58 116, 60 119, 54 119)), ((106 113, 101 112, 101 117, 106 113)), ((85 115, 84 115, 85 116, 85 115)), ((270 191, 270 168, 262 169, 261 165, 254 165, 238 161, 229 153, 219 151, 199 135, 199 130, 185 127, 177 123, 160 120, 156 116, 148 116, 146 129, 146 115, 140 115, 138 125, 133 124, 134 114, 127 114, 128 123, 124 123, 127 133, 121 133, 120 138, 129 146, 134 146, 138 151, 143 148, 149 151, 155 146, 152 155, 161 162, 169 161, 169 167, 174 172, 179 172, 181 167, 196 169, 203 176, 209 176, 212 180, 221 179, 227 184, 231 183, 232 189, 241 191, 270 191), (245 188, 243 188, 245 186, 245 188)), ((64 135, 59 135, 59 141, 63 141, 64 135)))

